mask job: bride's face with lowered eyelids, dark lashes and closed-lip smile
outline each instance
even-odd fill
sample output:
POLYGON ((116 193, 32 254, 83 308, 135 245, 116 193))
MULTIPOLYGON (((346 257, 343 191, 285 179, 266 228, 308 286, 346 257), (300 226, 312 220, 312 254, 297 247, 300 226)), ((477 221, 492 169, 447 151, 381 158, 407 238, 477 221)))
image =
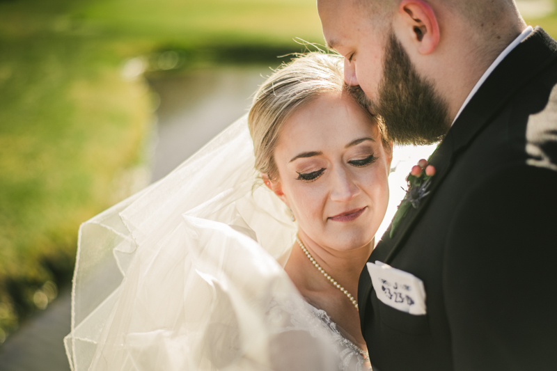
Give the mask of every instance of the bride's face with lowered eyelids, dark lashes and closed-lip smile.
POLYGON ((330 93, 295 111, 274 160, 272 189, 303 239, 340 251, 370 243, 389 201, 391 150, 352 98, 330 93))

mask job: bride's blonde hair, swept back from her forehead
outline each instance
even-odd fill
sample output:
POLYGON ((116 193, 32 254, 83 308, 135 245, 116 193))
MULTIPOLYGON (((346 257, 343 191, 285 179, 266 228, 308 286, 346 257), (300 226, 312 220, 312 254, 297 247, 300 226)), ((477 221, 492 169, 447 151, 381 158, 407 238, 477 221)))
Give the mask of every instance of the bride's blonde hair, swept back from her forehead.
MULTIPOLYGON (((256 169, 270 179, 278 176, 273 153, 288 118, 324 93, 350 93, 344 83, 344 60, 336 54, 311 52, 281 65, 260 86, 249 110, 248 126, 256 155, 256 169)), ((356 95, 352 95, 359 102, 356 95)), ((364 109, 371 122, 373 116, 364 109)))

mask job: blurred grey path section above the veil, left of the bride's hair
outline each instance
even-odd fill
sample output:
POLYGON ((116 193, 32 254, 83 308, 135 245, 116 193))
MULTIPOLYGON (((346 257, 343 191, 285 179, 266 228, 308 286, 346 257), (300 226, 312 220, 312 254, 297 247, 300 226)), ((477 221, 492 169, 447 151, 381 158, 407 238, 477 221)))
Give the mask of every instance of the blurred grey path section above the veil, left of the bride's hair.
POLYGON ((150 81, 160 96, 152 181, 159 180, 244 115, 269 68, 201 70, 150 81))

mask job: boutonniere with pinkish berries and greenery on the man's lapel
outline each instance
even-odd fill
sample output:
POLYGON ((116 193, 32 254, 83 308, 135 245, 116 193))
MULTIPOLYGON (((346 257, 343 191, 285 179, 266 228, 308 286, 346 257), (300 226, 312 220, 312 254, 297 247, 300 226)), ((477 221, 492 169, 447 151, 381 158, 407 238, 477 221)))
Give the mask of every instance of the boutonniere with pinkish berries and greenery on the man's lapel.
POLYGON ((427 165, 426 159, 418 161, 418 165, 414 165, 406 178, 408 182, 408 190, 405 198, 398 206, 398 211, 391 223, 391 233, 389 237, 393 238, 395 230, 406 215, 410 207, 417 209, 420 207, 421 200, 430 194, 431 177, 435 175, 435 168, 427 165))

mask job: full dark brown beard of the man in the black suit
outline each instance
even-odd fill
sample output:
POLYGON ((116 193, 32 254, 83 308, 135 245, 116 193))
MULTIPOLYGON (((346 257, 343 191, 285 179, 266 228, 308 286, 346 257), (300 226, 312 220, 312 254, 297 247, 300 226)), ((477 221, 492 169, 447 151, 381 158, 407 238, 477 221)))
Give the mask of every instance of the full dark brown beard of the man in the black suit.
MULTIPOLYGON (((433 85, 420 77, 394 33, 387 41, 377 102, 360 97, 382 116, 389 140, 401 144, 431 144, 450 128, 448 106, 433 85)), ((363 93, 363 92, 362 92, 363 93)))

